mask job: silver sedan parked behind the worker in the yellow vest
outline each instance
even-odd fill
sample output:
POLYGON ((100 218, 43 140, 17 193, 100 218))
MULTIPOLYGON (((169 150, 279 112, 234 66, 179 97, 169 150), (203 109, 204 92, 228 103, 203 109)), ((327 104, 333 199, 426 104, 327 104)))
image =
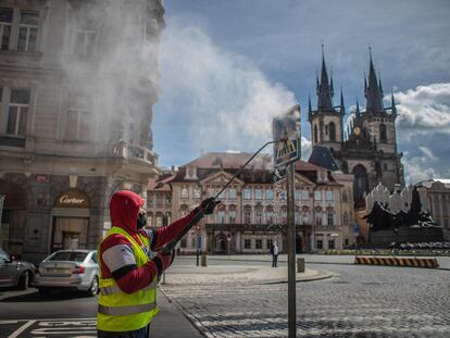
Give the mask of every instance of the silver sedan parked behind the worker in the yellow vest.
POLYGON ((34 286, 41 295, 49 295, 54 290, 77 290, 96 296, 99 291, 97 251, 53 252, 39 264, 34 286))

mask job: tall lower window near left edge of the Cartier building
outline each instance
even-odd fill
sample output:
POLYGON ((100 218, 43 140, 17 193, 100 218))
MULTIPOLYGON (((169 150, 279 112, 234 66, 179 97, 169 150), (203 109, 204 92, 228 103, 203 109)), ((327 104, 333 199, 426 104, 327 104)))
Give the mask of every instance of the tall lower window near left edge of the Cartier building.
POLYGON ((7 134, 25 136, 29 109, 29 89, 12 88, 8 110, 7 134))

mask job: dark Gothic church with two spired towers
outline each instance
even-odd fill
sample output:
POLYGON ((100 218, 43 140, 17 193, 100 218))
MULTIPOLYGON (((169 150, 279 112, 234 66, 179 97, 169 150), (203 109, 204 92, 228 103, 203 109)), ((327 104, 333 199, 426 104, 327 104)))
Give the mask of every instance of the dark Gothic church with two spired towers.
POLYGON ((364 198, 378 183, 390 191, 404 185, 402 153, 398 153, 396 138, 397 110, 393 95, 391 107, 383 104, 382 80, 377 79, 372 55, 370 59, 368 85, 364 79, 365 110, 352 112, 351 126, 346 132, 343 96, 340 104, 333 104, 333 77, 328 80, 325 58, 322 54, 321 80, 316 79, 317 109, 309 103, 309 121, 313 146, 329 149, 345 174, 354 175, 353 199, 355 206, 364 206, 364 198))

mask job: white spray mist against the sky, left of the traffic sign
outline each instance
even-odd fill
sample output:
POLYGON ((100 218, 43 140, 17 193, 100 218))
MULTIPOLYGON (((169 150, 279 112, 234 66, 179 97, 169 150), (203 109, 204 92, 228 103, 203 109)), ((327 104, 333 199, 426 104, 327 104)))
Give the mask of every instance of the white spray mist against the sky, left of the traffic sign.
POLYGON ((162 66, 164 102, 172 103, 159 112, 187 128, 192 150, 257 150, 272 139, 272 118, 296 104, 293 92, 248 59, 176 17, 164 32, 162 66))

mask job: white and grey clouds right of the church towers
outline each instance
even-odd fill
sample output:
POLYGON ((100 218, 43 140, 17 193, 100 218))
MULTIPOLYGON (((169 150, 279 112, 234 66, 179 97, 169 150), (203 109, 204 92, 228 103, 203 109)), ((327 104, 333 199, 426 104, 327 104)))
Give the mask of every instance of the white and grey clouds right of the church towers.
MULTIPOLYGON (((399 149, 405 181, 450 176, 450 84, 418 86, 395 93, 399 149)), ((388 98, 386 97, 386 100, 388 98)))

